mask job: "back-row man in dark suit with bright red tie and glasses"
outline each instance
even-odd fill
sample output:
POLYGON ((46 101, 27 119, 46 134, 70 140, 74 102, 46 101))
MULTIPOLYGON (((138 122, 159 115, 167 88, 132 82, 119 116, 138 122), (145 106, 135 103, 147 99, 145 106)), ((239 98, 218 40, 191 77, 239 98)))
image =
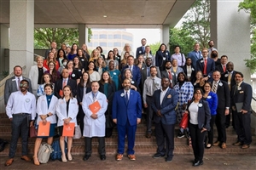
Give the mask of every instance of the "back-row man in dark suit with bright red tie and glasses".
POLYGON ((208 49, 203 48, 201 50, 203 55, 202 59, 198 59, 196 61, 196 69, 197 71, 201 71, 203 73, 203 79, 205 81, 212 81, 212 72, 215 71, 215 63, 213 59, 207 57, 208 49))

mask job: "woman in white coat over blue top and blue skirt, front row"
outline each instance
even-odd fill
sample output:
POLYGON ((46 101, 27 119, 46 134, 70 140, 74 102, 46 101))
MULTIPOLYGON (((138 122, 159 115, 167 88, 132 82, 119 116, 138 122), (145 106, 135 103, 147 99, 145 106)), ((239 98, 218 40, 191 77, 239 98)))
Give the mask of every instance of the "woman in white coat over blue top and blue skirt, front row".
POLYGON ((49 136, 45 137, 38 137, 35 142, 35 147, 34 147, 34 164, 39 165, 38 161, 38 150, 40 147, 40 144, 42 143, 43 138, 47 138, 47 143, 52 144, 53 142, 53 136, 55 135, 55 125, 56 125, 56 116, 55 116, 55 111, 56 111, 56 105, 58 102, 58 98, 55 97, 53 94, 53 86, 52 84, 45 84, 44 85, 44 95, 40 96, 38 98, 38 103, 37 103, 37 114, 38 114, 38 120, 37 120, 37 125, 39 122, 50 122, 50 127, 49 127, 49 136))

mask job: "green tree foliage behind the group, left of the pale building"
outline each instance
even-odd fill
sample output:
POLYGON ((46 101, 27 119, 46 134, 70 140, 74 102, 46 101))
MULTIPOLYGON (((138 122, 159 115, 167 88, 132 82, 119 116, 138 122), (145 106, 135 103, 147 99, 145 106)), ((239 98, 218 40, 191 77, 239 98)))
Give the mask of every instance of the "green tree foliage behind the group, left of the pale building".
MULTIPOLYGON (((88 29, 88 41, 92 32, 88 29)), ((49 48, 50 42, 55 41, 57 47, 61 47, 61 43, 72 45, 79 43, 79 29, 78 28, 35 28, 34 31, 34 47, 35 48, 49 48)))

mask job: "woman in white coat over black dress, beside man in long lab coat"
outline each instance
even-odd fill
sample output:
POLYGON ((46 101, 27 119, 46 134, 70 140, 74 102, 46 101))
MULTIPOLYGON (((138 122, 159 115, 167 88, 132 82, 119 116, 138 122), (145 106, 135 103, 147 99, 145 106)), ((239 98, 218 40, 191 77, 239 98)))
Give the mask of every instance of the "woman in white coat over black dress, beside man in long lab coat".
POLYGON ((78 100, 73 98, 71 88, 70 86, 65 86, 63 88, 64 91, 64 97, 62 99, 58 100, 58 104, 56 107, 56 114, 58 116, 58 124, 57 126, 59 127, 60 133, 61 133, 61 138, 60 138, 60 145, 61 145, 61 160, 63 162, 66 162, 67 159, 68 161, 72 161, 73 158, 71 156, 71 147, 73 143, 73 137, 67 137, 67 158, 65 155, 65 145, 64 145, 64 136, 62 136, 62 131, 63 131, 63 124, 66 123, 68 124, 69 122, 74 122, 75 127, 77 126, 77 115, 79 112, 79 105, 78 105, 78 100))

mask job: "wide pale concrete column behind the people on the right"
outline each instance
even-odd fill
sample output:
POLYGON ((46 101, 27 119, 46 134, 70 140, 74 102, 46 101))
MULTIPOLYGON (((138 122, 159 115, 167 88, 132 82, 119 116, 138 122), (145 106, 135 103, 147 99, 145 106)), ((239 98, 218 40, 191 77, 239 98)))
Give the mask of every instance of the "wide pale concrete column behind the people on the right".
POLYGON ((238 12, 241 0, 211 0, 211 39, 219 57, 227 55, 234 70, 241 71, 250 83, 250 70, 243 59, 250 59, 250 15, 238 12))

